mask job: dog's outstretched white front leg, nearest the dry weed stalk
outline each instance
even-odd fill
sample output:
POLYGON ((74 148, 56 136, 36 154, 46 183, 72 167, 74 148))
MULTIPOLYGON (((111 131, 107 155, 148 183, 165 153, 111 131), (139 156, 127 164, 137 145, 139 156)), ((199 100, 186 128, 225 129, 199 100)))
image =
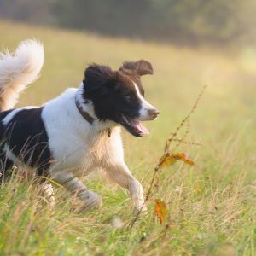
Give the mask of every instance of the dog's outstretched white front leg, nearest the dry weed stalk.
POLYGON ((147 211, 147 207, 144 203, 143 186, 132 176, 125 163, 108 166, 106 172, 111 180, 129 190, 131 200, 134 203, 134 213, 147 211))

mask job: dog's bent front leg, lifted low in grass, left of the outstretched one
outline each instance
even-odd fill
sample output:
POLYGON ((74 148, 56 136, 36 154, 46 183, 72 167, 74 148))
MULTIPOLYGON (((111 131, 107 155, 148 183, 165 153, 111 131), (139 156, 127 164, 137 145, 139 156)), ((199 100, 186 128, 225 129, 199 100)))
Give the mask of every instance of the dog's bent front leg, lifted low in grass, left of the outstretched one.
POLYGON ((96 192, 87 189, 78 177, 74 177, 72 173, 61 173, 53 177, 56 183, 60 183, 73 194, 79 196, 84 202, 84 206, 79 208, 79 212, 87 212, 92 208, 102 207, 102 198, 96 192))

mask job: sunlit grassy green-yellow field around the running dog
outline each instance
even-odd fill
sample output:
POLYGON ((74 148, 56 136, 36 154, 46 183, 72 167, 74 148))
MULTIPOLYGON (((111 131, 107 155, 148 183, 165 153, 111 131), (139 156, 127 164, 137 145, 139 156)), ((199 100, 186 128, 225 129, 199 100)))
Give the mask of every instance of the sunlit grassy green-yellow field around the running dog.
POLYGON ((256 253, 255 49, 177 47, 3 20, 0 32, 2 49, 15 49, 32 37, 44 42, 41 77, 22 94, 19 106, 42 104, 67 87, 78 86, 91 62, 119 68, 122 61, 151 61, 154 76, 143 77, 143 86, 160 117, 146 124, 148 137, 123 132, 126 162, 145 192, 166 138, 207 84, 186 138, 201 146, 182 144, 176 149, 189 155, 195 166, 178 162, 162 170, 148 213, 132 229, 129 195, 102 178, 84 178, 102 195, 102 210, 75 214, 73 198, 64 189, 55 188, 57 206, 51 212, 36 182, 14 177, 0 188, 1 255, 256 253), (154 214, 154 199, 167 204, 164 224, 154 214))

